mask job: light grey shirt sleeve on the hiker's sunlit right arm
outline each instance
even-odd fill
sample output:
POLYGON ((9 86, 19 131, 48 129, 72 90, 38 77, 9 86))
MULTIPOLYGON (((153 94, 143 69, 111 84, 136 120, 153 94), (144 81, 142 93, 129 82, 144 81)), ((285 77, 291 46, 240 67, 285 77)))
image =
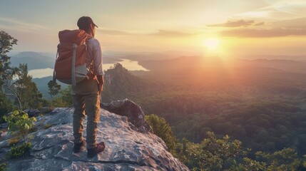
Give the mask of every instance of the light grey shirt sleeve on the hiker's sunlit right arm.
POLYGON ((96 76, 103 76, 103 58, 101 46, 98 40, 95 40, 93 43, 93 69, 96 73, 96 76))

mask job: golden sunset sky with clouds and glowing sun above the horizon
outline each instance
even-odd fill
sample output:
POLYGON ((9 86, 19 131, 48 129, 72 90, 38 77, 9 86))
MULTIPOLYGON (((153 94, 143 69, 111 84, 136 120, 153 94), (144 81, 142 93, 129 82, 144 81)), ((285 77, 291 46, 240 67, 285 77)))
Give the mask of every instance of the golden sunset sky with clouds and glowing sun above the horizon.
POLYGON ((98 25, 103 51, 306 56, 305 0, 0 0, 14 51, 55 52, 80 16, 98 25))

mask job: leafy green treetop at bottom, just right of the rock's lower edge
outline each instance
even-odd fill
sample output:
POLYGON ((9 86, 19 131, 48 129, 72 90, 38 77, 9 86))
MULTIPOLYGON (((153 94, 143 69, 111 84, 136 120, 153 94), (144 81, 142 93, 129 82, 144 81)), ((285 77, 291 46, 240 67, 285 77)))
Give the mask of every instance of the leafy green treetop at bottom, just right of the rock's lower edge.
POLYGON ((183 138, 179 158, 190 170, 229 170, 245 154, 240 141, 230 140, 228 135, 219 139, 213 132, 207 135, 200 143, 183 138))

